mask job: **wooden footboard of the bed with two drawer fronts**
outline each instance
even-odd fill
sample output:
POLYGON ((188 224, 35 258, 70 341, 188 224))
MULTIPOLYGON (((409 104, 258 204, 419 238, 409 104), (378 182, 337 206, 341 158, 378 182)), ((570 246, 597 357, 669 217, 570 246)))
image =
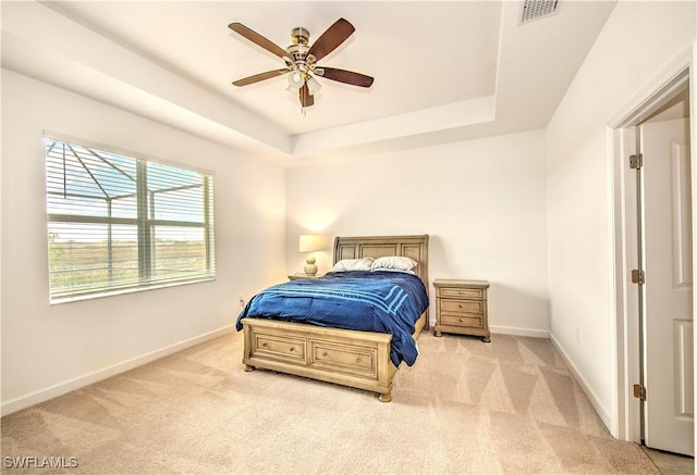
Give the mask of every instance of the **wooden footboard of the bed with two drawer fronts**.
MULTIPOLYGON (((415 336, 425 324, 421 315, 415 336)), ((246 371, 273 370, 377 392, 392 400, 392 335, 243 318, 246 371)))

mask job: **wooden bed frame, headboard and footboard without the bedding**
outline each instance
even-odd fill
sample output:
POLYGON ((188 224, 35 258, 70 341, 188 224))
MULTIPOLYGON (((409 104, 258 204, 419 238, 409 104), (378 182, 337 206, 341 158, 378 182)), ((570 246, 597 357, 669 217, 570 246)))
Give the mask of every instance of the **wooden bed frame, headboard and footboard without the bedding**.
MULTIPOLYGON (((334 264, 342 259, 404 255, 418 263, 414 270, 429 291, 428 235, 337 237, 334 264)), ((414 338, 428 329, 428 309, 416 322, 414 338)), ((245 371, 265 368, 335 383, 378 393, 392 400, 396 367, 390 360, 392 335, 328 328, 291 322, 246 317, 245 371)))

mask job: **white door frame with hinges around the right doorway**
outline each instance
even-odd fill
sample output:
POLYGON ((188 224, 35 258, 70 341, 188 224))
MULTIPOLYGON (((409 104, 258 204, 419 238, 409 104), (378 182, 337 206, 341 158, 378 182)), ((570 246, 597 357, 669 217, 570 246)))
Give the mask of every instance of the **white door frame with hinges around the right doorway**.
MULTIPOLYGON (((690 159, 697 164, 697 80, 695 74, 697 49, 689 48, 670 64, 662 74, 651 80, 623 110, 609 122, 607 134, 609 152, 612 307, 611 349, 615 364, 611 370, 612 404, 610 433, 621 440, 641 442, 639 400, 632 392, 632 385, 639 383, 639 291, 631 282, 631 271, 637 261, 637 207, 636 179, 631 178, 628 158, 636 153, 635 126, 648 118, 677 92, 689 87, 690 159)), ((692 202, 693 226, 697 226, 697 166, 693 166, 692 202)), ((693 248, 697 249, 697 232, 693 233, 693 248)), ((693 272, 697 275, 697 253, 693 257, 693 272)), ((693 295, 693 307, 697 309, 697 292, 693 295)), ((697 336, 697 327, 695 335, 697 336)), ((697 338, 695 338, 697 340, 697 338)), ((697 372, 697 352, 695 352, 697 372)), ((697 378, 695 378, 697 380, 697 378)), ((696 391, 697 402, 697 391, 696 391)), ((697 408, 697 403, 695 404, 697 408)), ((697 434, 697 424, 695 424, 697 434)), ((697 437, 695 438, 697 440, 697 437)))

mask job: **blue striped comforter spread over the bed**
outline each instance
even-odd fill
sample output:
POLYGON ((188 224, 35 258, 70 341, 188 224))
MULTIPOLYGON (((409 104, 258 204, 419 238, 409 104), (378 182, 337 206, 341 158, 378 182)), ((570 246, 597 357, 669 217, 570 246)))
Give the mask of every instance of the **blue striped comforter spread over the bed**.
POLYGON ((390 359, 413 365, 418 351, 415 323, 428 307, 421 279, 403 272, 332 272, 317 279, 291 280, 254 296, 237 316, 273 318, 392 335, 390 359))

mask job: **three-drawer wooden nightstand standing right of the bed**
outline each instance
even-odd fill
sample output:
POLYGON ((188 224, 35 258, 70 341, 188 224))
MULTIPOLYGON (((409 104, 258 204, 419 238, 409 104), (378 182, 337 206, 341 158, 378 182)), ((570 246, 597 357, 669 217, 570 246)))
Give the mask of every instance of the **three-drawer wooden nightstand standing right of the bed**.
POLYGON ((436 328, 435 335, 442 333, 476 335, 481 341, 491 341, 489 320, 487 317, 486 280, 440 279, 433 280, 436 287, 436 328))

